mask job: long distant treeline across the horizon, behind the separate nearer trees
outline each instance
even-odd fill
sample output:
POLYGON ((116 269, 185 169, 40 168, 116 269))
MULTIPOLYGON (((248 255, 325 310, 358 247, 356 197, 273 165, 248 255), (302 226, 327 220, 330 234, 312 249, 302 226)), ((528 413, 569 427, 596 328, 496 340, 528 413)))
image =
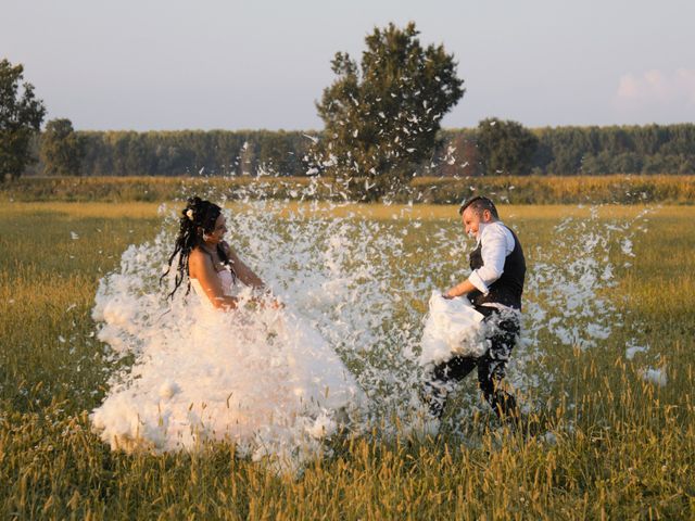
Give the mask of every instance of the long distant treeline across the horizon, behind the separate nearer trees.
MULTIPOLYGON (((440 131, 437 152, 419 167, 418 175, 495 175, 484 168, 484 157, 478 147, 479 132, 479 128, 440 131)), ((531 132, 538 143, 529 174, 695 174, 693 124, 548 127, 531 132)), ((83 176, 305 176, 315 171, 313 147, 321 137, 320 132, 282 130, 76 134, 84 147, 78 170, 83 176)), ((35 142, 37 151, 38 147, 35 142)), ((39 161, 27 174, 51 174, 47 170, 39 161)))

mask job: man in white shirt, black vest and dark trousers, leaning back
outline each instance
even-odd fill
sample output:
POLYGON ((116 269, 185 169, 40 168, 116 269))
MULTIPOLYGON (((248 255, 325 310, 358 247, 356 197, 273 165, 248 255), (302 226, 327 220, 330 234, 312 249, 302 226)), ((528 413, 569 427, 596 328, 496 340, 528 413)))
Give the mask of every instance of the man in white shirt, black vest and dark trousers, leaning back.
POLYGON ((469 258, 472 272, 443 296, 468 296, 484 316, 488 350, 480 357, 454 356, 434 366, 426 383, 427 405, 434 418, 441 418, 452 381, 463 380, 478 369, 480 389, 492 409, 498 417, 516 421, 516 399, 500 384, 519 333, 526 275, 523 251, 517 236, 500 220, 490 199, 472 198, 460 206, 458 214, 466 233, 478 243, 469 258))

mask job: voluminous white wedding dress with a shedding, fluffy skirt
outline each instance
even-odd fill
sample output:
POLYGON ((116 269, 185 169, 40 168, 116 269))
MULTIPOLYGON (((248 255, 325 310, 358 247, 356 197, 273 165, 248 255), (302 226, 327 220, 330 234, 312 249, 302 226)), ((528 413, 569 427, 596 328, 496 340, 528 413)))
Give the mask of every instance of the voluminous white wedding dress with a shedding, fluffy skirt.
POLYGON ((250 290, 236 288, 227 270, 218 276, 225 294, 239 296, 239 309, 215 309, 195 279, 197 297, 162 316, 147 295, 122 302, 123 291, 116 297, 104 290, 119 288, 117 275, 100 285, 93 313, 103 322, 100 339, 136 354, 91 415, 113 448, 176 450, 230 441, 256 458, 295 455, 319 446, 365 406, 318 332, 290 310, 244 306, 250 290))

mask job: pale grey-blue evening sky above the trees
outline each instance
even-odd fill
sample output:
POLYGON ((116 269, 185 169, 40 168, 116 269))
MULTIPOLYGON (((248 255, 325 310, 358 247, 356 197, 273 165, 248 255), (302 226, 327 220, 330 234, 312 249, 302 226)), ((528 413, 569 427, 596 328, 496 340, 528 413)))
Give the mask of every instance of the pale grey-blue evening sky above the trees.
POLYGON ((309 130, 334 53, 409 21, 465 81, 445 128, 695 122, 693 0, 0 0, 0 59, 80 130, 309 130))

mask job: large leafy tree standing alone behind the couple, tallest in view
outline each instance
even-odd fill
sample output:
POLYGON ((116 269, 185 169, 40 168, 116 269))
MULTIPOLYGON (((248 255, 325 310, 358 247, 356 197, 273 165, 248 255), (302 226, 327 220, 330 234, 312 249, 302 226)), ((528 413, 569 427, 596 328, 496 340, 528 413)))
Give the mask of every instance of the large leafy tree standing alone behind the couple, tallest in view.
POLYGON ((375 28, 359 66, 336 53, 338 78, 316 104, 326 125, 320 166, 364 179, 368 200, 399 190, 431 157, 442 117, 464 96, 454 56, 422 48, 418 34, 413 22, 375 28))

